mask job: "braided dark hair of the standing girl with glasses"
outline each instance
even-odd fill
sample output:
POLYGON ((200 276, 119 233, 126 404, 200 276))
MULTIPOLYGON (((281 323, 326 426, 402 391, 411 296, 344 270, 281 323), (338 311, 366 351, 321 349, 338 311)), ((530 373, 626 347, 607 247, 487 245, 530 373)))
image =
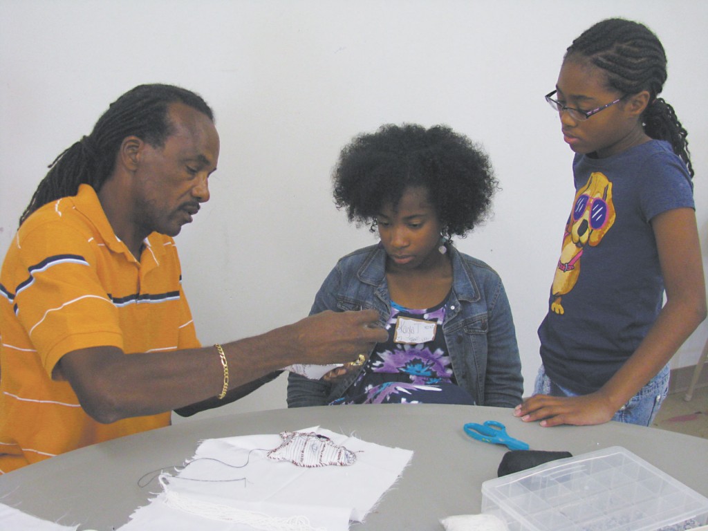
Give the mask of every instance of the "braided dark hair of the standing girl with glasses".
POLYGON ((566 59, 588 59, 607 73, 607 84, 624 94, 649 91, 642 120, 646 135, 671 144, 693 177, 687 131, 671 105, 658 95, 666 81, 666 53, 645 25, 623 18, 608 18, 593 25, 566 50, 566 59))

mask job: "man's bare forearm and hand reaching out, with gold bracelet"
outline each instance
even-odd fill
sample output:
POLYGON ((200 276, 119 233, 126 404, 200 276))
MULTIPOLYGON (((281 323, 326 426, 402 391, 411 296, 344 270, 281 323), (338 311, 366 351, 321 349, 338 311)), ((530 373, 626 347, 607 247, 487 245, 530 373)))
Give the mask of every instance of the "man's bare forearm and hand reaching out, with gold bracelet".
MULTIPOLYGON (((387 338, 375 310, 323 312, 260 336, 224 343, 229 388, 239 388, 294 363, 345 363, 387 338)), ((55 378, 66 378, 86 413, 111 423, 207 401, 222 392, 224 367, 210 346, 125 355, 95 347, 65 354, 55 378)))

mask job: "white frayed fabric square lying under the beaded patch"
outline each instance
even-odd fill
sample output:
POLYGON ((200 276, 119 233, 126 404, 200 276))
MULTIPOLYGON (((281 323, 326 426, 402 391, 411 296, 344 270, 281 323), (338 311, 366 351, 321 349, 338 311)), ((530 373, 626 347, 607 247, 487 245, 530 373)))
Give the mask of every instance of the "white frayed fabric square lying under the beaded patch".
POLYGON ((273 461, 266 454, 281 445, 278 434, 205 440, 181 472, 161 475, 164 491, 120 531, 346 531, 350 520, 364 520, 413 457, 411 450, 319 426, 298 431, 356 452, 355 463, 307 468, 273 461))

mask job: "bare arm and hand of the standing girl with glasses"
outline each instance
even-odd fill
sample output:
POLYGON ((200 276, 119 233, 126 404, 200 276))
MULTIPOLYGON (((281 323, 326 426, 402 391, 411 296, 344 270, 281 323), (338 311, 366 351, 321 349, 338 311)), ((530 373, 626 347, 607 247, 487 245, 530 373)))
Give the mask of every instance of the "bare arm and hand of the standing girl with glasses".
POLYGON ((600 424, 612 416, 668 363, 706 317, 706 291, 695 212, 678 208, 651 219, 666 289, 666 304, 649 333, 615 375, 585 396, 536 395, 515 416, 541 426, 600 424))

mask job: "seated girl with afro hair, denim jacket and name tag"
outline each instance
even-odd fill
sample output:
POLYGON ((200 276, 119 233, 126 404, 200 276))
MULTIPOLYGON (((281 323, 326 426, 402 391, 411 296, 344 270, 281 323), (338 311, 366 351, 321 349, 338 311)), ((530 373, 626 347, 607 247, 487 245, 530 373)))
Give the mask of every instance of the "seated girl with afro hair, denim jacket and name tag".
POLYGON ((333 179, 336 205, 381 241, 338 261, 312 313, 374 308, 389 338, 321 379, 291 372, 288 406, 518 404, 501 278, 450 241, 489 212, 497 181, 486 154, 448 127, 386 125, 342 150, 333 179))

